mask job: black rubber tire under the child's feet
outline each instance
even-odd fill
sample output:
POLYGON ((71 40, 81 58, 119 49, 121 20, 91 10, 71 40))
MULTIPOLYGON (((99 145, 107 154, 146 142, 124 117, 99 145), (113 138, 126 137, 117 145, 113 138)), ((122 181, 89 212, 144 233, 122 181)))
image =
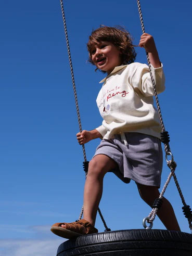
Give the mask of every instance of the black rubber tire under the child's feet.
POLYGON ((192 235, 162 229, 130 229, 63 242, 57 256, 191 256, 192 235))

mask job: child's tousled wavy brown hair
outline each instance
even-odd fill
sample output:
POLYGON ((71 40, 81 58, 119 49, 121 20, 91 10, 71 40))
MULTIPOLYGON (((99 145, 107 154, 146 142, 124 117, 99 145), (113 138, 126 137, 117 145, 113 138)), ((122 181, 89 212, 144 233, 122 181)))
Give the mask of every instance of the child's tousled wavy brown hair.
POLYGON ((100 26, 100 28, 94 30, 92 34, 89 36, 89 41, 87 43, 87 49, 89 53, 88 61, 92 61, 92 48, 95 43, 100 41, 107 41, 114 44, 120 51, 121 54, 121 65, 126 65, 134 62, 136 53, 134 49, 134 45, 132 43, 131 35, 128 31, 124 28, 117 26, 117 27, 107 27, 107 26, 100 26))

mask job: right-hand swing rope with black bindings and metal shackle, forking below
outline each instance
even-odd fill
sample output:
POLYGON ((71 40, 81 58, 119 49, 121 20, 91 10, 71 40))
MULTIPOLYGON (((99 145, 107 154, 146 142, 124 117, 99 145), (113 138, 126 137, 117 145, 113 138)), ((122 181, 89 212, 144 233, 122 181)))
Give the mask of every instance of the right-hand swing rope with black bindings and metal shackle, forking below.
MULTIPOLYGON (((137 0, 137 6, 138 6, 138 11, 139 11, 140 23, 142 25, 142 31, 143 31, 143 33, 145 33, 143 16, 142 16, 142 10, 140 8, 139 0, 137 0)), ((154 81, 153 76, 152 76, 151 65, 150 65, 150 61, 149 61, 149 55, 148 55, 147 52, 146 52, 146 55, 147 55, 147 61, 148 61, 148 66, 149 66, 149 72, 150 72, 150 76, 151 76, 152 87, 153 87, 153 91, 154 91, 154 95, 155 95, 155 99, 156 99, 159 119, 160 119, 160 123, 161 123, 161 141, 164 144, 165 158, 166 158, 167 165, 170 168, 171 172, 170 172, 170 174, 168 176, 167 181, 164 184, 164 187, 163 187, 163 189, 162 189, 162 191, 160 193, 159 198, 156 199, 155 202, 153 203, 152 211, 149 213, 149 216, 145 217, 145 219, 143 220, 143 226, 146 229, 152 228, 153 220, 155 220, 157 211, 161 207, 162 198, 163 198, 163 195, 165 193, 165 190, 166 190, 166 188, 167 188, 167 186, 168 186, 168 184, 169 184, 169 182, 171 180, 171 177, 173 176, 175 184, 176 184, 176 187, 178 189, 178 193, 180 194, 182 203, 184 205, 182 207, 184 215, 188 219, 189 228, 192 231, 192 223, 191 223, 192 222, 192 211, 190 209, 190 206, 187 206, 187 204, 186 204, 186 202, 184 200, 181 188, 178 185, 178 181, 177 181, 177 178, 176 178, 176 175, 175 175, 176 162, 174 161, 174 158, 173 158, 173 155, 172 155, 172 152, 171 152, 171 149, 170 149, 170 145, 169 145, 169 142, 170 142, 169 133, 167 131, 165 131, 165 127, 164 127, 163 119, 162 119, 162 114, 161 114, 161 109, 160 109, 160 105, 159 105, 159 99, 158 99, 157 92, 156 92, 156 85, 155 85, 155 81, 154 81), (168 160, 168 156, 171 156, 171 160, 168 160), (149 223, 149 226, 146 225, 146 222, 149 223)))

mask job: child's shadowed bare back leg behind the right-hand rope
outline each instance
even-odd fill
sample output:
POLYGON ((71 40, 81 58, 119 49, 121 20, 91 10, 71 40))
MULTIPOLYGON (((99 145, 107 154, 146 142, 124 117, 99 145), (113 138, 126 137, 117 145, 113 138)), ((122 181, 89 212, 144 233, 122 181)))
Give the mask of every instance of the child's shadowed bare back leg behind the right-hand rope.
MULTIPOLYGON (((160 195, 159 189, 157 187, 145 186, 138 183, 137 183, 137 187, 138 187, 140 197, 150 207, 152 207, 153 202, 160 195)), ((171 203, 164 197, 162 198, 162 201, 163 201, 162 206, 157 212, 159 219, 162 221, 162 223, 165 225, 167 229, 174 230, 174 231, 181 231, 180 226, 178 225, 173 207, 171 206, 171 203)))

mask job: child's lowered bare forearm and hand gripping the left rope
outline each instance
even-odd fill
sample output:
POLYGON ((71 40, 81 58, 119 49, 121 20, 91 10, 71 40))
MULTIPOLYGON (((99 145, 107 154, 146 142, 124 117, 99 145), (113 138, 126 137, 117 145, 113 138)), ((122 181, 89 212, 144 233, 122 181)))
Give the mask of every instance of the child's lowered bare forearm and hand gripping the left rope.
POLYGON ((80 145, 89 142, 92 139, 102 138, 102 135, 96 130, 86 131, 83 130, 81 133, 76 134, 76 138, 80 145))

